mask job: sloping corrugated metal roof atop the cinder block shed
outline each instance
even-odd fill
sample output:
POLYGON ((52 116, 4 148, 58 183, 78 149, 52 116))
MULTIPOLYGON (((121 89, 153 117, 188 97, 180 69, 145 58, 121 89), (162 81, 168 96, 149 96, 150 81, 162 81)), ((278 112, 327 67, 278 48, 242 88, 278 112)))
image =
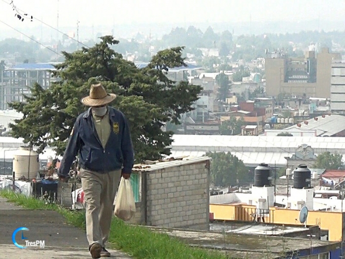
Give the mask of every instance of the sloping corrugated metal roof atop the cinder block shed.
POLYGON ((181 166, 181 165, 188 165, 203 161, 211 160, 208 156, 199 156, 199 157, 192 157, 192 156, 184 156, 184 157, 176 157, 173 160, 167 159, 166 161, 152 161, 154 164, 137 164, 133 166, 132 171, 145 171, 145 172, 153 172, 160 169, 181 166))

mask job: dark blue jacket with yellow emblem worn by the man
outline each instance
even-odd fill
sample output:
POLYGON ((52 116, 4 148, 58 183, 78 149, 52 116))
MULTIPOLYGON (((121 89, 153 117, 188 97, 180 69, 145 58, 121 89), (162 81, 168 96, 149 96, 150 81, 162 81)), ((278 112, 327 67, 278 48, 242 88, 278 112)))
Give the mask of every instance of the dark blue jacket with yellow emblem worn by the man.
POLYGON ((79 153, 81 168, 105 173, 121 169, 130 174, 134 151, 125 115, 108 107, 111 133, 103 148, 92 120, 91 108, 80 114, 72 129, 58 175, 68 176, 75 156, 79 153))

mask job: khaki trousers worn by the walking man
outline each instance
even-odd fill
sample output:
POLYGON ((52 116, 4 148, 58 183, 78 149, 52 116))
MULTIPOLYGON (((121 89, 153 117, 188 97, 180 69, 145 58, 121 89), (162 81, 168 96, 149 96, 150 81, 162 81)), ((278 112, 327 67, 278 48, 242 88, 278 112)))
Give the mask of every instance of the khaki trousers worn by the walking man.
POLYGON ((121 170, 97 173, 80 169, 80 178, 86 203, 86 237, 89 246, 97 242, 104 247, 109 237, 121 170))

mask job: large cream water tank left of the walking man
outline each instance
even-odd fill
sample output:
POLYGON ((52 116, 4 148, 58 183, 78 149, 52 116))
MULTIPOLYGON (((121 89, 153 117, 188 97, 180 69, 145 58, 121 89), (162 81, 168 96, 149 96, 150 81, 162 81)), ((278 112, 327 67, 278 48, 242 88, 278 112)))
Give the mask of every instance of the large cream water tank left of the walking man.
POLYGON ((38 153, 30 149, 30 147, 20 147, 19 150, 16 150, 13 156, 15 179, 22 176, 29 180, 36 178, 39 172, 38 153))

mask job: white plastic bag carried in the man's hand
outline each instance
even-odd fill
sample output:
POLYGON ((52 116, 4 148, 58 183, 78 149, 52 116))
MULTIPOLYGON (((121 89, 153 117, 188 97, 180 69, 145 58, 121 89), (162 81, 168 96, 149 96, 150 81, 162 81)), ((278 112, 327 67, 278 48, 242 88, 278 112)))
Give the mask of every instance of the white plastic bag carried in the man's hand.
POLYGON ((114 215, 123 220, 129 221, 136 213, 136 203, 129 179, 121 178, 119 189, 115 198, 114 215))

